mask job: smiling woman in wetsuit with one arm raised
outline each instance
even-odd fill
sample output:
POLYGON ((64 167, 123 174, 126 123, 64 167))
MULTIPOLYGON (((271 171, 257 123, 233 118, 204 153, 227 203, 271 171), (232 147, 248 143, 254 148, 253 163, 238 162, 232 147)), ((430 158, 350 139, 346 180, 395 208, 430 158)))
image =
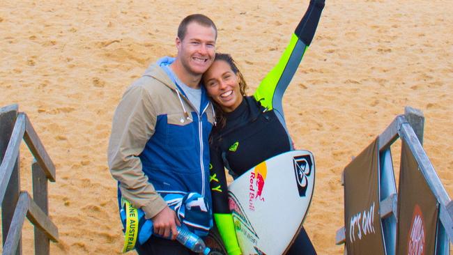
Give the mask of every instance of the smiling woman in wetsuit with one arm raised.
MULTIPOLYGON (((229 254, 240 254, 240 249, 228 206, 224 167, 235 178, 270 157, 293 150, 284 121, 282 96, 312 41, 323 6, 323 0, 310 1, 282 59, 253 96, 246 96, 247 84, 229 54, 216 54, 204 74, 203 82, 217 115, 217 125, 210 137, 214 219, 229 254)), ((316 254, 305 229, 287 254, 316 254)))

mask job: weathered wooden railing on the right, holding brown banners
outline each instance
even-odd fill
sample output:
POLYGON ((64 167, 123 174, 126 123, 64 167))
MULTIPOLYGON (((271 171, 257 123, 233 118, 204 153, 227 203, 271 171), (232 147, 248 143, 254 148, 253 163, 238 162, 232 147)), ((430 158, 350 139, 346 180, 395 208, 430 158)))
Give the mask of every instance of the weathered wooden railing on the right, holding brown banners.
MULTIPOLYGON (((394 254, 396 246, 397 224, 397 189, 394 185, 394 170, 391 164, 390 146, 398 138, 408 144, 420 171, 428 183, 431 191, 439 203, 440 224, 437 231, 436 254, 450 254, 450 242, 453 242, 453 201, 450 200, 443 187, 436 170, 433 168, 423 143, 424 116, 421 111, 411 107, 405 108, 404 115, 394 118, 394 121, 378 137, 379 157, 381 158, 381 199, 379 214, 383 225, 383 235, 387 254, 394 254)), ((341 183, 344 184, 344 173, 341 173, 341 183)), ((345 243, 346 230, 344 227, 337 230, 335 243, 345 243)), ((346 246, 344 253, 347 254, 346 246)))

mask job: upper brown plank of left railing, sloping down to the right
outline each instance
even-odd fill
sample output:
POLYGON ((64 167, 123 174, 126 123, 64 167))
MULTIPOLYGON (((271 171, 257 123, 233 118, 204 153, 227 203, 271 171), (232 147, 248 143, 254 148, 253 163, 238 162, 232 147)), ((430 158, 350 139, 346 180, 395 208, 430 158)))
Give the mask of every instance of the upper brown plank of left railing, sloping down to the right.
MULTIPOLYGON (((22 114, 22 113, 21 113, 22 114)), ((55 165, 54 162, 50 159, 47 154, 43 143, 36 134, 36 131, 33 129, 33 125, 29 120, 29 117, 24 114, 25 118, 25 134, 24 141, 27 146, 29 146, 31 153, 36 158, 36 161, 43 168, 45 176, 49 178, 50 181, 55 181, 55 165)))

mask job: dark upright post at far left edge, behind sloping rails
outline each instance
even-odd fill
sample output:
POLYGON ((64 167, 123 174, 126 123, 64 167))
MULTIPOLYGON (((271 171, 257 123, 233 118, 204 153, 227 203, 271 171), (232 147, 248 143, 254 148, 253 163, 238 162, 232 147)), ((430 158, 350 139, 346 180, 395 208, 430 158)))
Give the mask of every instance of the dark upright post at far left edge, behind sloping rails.
MULTIPOLYGON (((3 160, 6 148, 8 147, 8 142, 10 141, 11 134, 13 133, 13 127, 17 118, 18 108, 19 107, 17 104, 0 108, 0 161, 3 160)), ((1 203, 1 230, 3 233, 3 245, 5 245, 6 236, 8 235, 10 224, 13 220, 14 211, 19 199, 19 194, 19 155, 17 155, 15 167, 13 169, 13 173, 11 173, 8 187, 6 188, 5 198, 3 199, 3 203, 1 203)), ((22 254, 21 240, 19 241, 16 254, 22 254)))

